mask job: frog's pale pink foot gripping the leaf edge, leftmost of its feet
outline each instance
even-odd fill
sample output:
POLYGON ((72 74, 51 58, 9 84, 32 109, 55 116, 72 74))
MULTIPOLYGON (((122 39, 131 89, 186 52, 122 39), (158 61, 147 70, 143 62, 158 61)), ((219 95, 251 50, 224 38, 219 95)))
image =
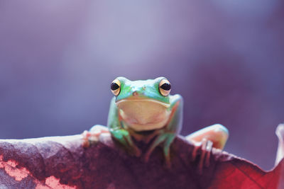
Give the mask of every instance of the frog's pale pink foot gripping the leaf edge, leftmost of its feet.
POLYGON ((89 131, 84 130, 82 133, 84 148, 89 147, 91 144, 99 142, 99 135, 102 133, 109 133, 109 129, 103 125, 94 125, 89 131))

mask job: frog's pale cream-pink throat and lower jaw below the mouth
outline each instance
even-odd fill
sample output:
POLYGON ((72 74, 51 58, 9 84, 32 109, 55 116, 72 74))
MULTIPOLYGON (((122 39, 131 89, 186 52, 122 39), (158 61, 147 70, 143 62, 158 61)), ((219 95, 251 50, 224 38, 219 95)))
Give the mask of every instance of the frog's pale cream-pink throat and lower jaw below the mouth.
POLYGON ((170 104, 152 99, 124 99, 116 102, 119 115, 135 131, 156 130, 168 122, 170 104))

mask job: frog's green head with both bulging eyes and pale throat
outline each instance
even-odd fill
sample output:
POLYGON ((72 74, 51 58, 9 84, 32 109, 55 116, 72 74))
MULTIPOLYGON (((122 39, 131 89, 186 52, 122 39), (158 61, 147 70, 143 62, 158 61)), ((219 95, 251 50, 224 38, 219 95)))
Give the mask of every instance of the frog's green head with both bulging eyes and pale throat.
POLYGON ((119 115, 136 131, 163 127, 170 115, 170 82, 165 77, 130 81, 118 77, 111 83, 119 115))

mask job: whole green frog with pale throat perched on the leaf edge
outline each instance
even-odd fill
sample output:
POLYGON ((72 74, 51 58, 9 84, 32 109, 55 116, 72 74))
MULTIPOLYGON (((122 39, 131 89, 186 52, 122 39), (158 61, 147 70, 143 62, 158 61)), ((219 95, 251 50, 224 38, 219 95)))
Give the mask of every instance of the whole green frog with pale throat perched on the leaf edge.
MULTIPOLYGON (((91 130, 84 131, 83 146, 97 143, 101 134, 108 133, 134 156, 142 154, 135 141, 150 143, 143 154, 145 161, 148 161, 156 147, 162 147, 166 165, 170 166, 170 146, 182 129, 182 96, 170 94, 170 81, 163 76, 136 81, 119 76, 111 82, 110 88, 114 96, 110 103, 107 127, 94 125, 91 130)), ((224 148, 228 134, 226 127, 217 124, 189 134, 185 139, 195 147, 202 147, 202 157, 205 159, 212 147, 224 148)), ((194 150, 192 160, 196 156, 194 150)))

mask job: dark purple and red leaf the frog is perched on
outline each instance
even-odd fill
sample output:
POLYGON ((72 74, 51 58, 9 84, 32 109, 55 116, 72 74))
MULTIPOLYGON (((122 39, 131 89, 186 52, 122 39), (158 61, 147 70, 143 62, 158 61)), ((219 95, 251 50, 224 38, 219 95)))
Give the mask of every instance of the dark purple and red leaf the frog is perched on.
POLYGON ((214 150, 200 174, 201 149, 190 161, 193 146, 182 137, 171 148, 171 168, 159 148, 146 163, 109 135, 87 149, 81 144, 80 135, 0 140, 0 188, 284 188, 283 160, 266 172, 214 150))

